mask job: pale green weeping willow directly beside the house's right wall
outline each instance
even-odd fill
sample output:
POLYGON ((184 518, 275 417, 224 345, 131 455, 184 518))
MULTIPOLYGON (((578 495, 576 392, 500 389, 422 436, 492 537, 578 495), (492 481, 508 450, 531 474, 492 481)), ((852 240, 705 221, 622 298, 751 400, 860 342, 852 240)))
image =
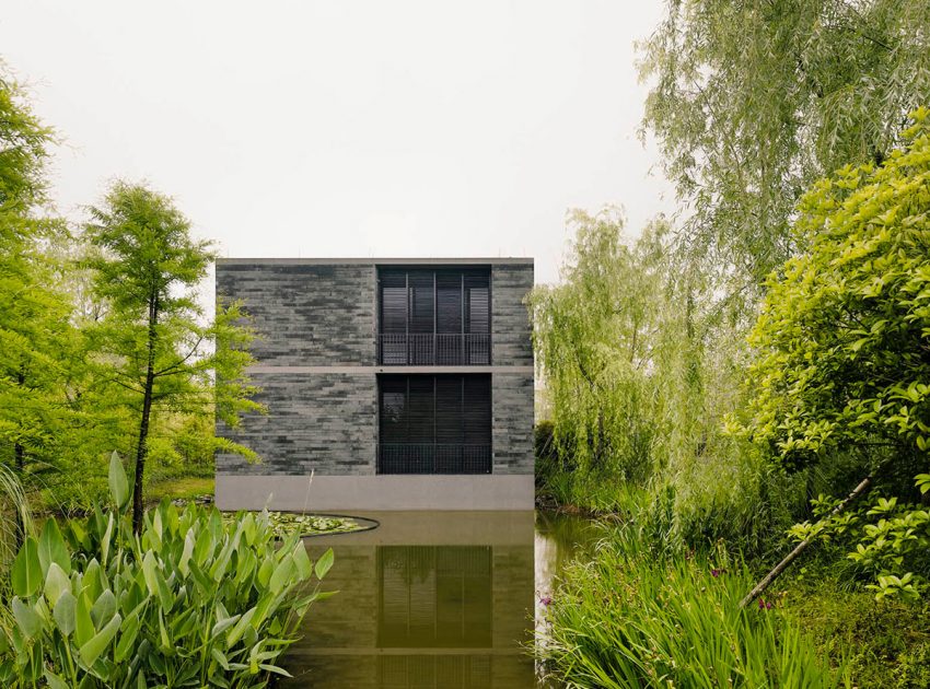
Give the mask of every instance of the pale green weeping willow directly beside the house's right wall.
MULTIPOLYGON (((576 231, 561 283, 530 296, 537 361, 559 454, 582 471, 646 481, 667 413, 659 362, 681 315, 669 308, 667 226, 629 243, 616 209, 573 211, 576 231)), ((661 463, 662 458, 658 458, 661 463)))

